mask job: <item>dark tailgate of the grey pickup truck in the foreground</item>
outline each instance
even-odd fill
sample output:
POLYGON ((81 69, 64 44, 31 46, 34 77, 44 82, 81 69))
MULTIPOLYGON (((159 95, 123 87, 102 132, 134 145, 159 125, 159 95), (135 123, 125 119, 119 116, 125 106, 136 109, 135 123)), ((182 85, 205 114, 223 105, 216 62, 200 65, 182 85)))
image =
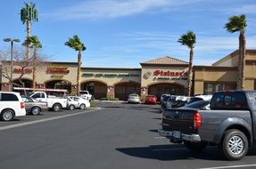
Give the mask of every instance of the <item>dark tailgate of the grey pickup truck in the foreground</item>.
POLYGON ((198 133, 194 128, 196 109, 165 109, 162 112, 162 129, 181 133, 198 133))

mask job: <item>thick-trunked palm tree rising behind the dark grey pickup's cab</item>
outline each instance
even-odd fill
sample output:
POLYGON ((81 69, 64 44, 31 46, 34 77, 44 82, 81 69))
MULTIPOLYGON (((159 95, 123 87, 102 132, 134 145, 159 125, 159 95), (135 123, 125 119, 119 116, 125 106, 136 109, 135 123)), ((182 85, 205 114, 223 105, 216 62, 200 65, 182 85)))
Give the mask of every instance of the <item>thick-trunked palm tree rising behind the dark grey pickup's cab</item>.
POLYGON ((238 55, 238 80, 237 88, 240 90, 244 89, 244 66, 245 66, 245 29, 247 27, 246 16, 244 14, 240 16, 233 16, 228 19, 224 28, 227 31, 234 33, 239 31, 239 55, 238 55))

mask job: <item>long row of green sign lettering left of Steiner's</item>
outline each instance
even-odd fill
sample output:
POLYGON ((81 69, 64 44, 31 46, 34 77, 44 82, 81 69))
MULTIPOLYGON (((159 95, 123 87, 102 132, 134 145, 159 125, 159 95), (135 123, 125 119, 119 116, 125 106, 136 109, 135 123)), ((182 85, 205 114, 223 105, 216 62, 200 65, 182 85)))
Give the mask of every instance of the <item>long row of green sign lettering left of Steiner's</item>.
POLYGON ((118 74, 118 73, 84 73, 83 76, 87 77, 105 77, 105 78, 114 78, 114 77, 129 77, 129 76, 139 76, 137 74, 118 74))

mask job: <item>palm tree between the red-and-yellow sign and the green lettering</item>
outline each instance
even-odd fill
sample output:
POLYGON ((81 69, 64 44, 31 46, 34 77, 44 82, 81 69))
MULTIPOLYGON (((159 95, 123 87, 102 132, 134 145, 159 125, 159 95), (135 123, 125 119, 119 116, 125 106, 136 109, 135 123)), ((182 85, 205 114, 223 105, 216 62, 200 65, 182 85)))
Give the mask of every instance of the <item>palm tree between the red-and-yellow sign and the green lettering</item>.
POLYGON ((77 94, 80 92, 80 71, 82 65, 82 52, 87 49, 85 44, 83 44, 80 38, 77 35, 74 35, 73 38, 69 38, 69 40, 65 43, 65 45, 70 46, 70 48, 78 51, 78 75, 77 75, 77 94))

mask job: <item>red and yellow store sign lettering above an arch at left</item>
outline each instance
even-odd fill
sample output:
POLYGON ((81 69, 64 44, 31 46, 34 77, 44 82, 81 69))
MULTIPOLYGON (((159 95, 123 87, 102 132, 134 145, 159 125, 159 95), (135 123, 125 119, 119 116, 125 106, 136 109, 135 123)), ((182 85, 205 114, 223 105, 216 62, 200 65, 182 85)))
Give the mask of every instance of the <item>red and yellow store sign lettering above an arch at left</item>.
POLYGON ((68 67, 62 65, 51 65, 46 68, 46 74, 50 74, 51 78, 62 78, 69 73, 68 67))

